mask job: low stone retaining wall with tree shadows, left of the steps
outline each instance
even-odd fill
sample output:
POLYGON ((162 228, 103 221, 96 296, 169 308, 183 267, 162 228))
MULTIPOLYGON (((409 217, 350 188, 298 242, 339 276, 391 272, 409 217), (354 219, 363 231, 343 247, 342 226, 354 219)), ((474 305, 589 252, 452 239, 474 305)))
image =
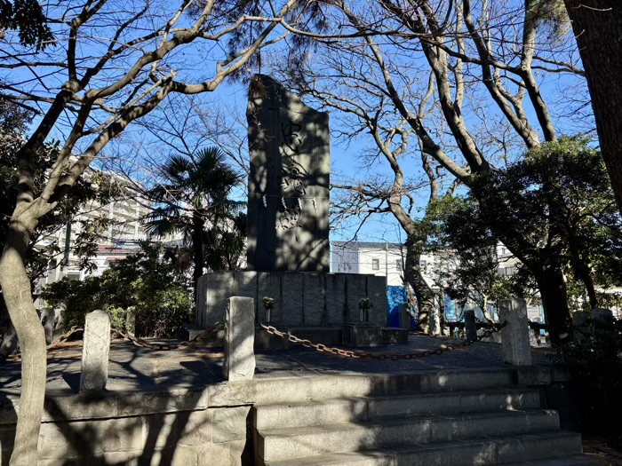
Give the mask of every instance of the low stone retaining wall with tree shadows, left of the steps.
MULTIPOLYGON (((254 383, 204 390, 48 396, 38 466, 251 464, 254 383)), ((17 399, 0 401, 0 465, 9 464, 17 399)))

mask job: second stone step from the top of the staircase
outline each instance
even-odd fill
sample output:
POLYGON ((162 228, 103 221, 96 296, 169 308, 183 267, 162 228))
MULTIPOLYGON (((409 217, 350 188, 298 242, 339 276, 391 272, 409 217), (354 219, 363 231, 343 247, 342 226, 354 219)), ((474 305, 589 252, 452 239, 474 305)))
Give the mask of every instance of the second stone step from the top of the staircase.
POLYGON ((382 417, 486 413, 540 407, 536 389, 448 391, 391 397, 309 400, 253 407, 257 430, 370 421, 382 417))

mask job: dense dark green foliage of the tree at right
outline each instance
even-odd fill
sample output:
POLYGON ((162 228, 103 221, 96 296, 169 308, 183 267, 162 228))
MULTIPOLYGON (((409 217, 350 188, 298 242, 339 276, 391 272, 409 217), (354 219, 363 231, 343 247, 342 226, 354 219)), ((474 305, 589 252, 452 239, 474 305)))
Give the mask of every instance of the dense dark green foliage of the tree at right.
POLYGON ((604 304, 595 288, 622 283, 622 221, 602 156, 587 142, 561 138, 506 170, 479 175, 474 192, 484 204, 471 195, 437 203, 435 241, 459 259, 448 280, 454 297, 465 299, 471 288, 529 297, 537 288, 530 269, 536 265, 565 272, 572 309, 604 304), (499 238, 532 261, 505 282, 496 272, 499 238), (590 293, 596 302, 592 297, 586 304, 590 293))

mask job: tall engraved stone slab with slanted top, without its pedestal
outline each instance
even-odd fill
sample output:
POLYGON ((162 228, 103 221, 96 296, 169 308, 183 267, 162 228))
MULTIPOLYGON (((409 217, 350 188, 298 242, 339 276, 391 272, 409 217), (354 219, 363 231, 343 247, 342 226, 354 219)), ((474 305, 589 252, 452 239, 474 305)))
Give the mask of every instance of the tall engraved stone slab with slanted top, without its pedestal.
POLYGON ((329 272, 328 114, 254 75, 246 116, 248 270, 329 272))

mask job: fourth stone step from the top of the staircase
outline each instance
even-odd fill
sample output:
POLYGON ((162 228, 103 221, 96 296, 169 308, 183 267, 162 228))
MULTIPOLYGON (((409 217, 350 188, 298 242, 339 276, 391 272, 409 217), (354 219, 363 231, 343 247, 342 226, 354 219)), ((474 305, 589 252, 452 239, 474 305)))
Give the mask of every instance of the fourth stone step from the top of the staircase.
MULTIPOLYGON (((334 438, 333 441, 339 441, 334 438)), ((474 438, 417 446, 390 447, 354 453, 321 454, 267 461, 265 466, 595 466, 581 455, 581 437, 557 430, 512 437, 474 438), (564 462, 564 461, 568 462, 564 462)))

